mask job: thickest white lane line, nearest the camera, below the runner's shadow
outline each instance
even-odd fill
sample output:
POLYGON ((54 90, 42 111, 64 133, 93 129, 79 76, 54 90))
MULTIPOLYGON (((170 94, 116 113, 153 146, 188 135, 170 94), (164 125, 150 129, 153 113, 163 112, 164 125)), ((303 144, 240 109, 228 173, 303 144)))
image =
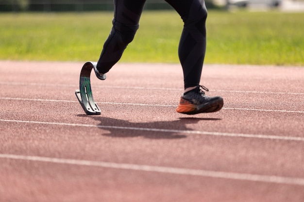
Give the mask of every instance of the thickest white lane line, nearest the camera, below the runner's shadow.
POLYGON ((259 174, 248 174, 248 173, 237 173, 237 172, 225 172, 225 171, 206 171, 199 169, 183 169, 183 168, 174 168, 174 167, 149 166, 149 165, 90 161, 90 160, 76 160, 76 159, 52 158, 52 157, 43 157, 43 156, 29 156, 29 155, 0 154, 0 158, 304 186, 304 178, 292 178, 292 177, 283 177, 283 176, 275 176, 275 175, 259 175, 259 174))

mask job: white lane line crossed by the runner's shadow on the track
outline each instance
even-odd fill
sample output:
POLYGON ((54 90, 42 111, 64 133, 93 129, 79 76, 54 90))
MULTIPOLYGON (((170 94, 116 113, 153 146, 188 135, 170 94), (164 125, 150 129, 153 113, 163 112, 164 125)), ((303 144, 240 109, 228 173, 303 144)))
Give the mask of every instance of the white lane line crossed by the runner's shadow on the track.
POLYGON ((38 121, 22 121, 22 120, 7 120, 7 119, 0 119, 0 122, 13 122, 13 123, 23 123, 23 124, 65 125, 65 126, 80 126, 80 127, 97 127, 97 128, 106 128, 106 129, 139 130, 139 131, 153 131, 153 132, 164 132, 164 133, 211 135, 211 136, 222 136, 222 137, 256 138, 256 139, 268 139, 268 140, 304 141, 303 137, 243 134, 243 133, 221 133, 221 132, 209 132, 209 131, 198 131, 198 130, 173 130, 173 129, 161 129, 161 128, 124 127, 124 126, 93 125, 93 124, 70 124, 70 123, 58 123, 58 122, 38 122, 38 121))

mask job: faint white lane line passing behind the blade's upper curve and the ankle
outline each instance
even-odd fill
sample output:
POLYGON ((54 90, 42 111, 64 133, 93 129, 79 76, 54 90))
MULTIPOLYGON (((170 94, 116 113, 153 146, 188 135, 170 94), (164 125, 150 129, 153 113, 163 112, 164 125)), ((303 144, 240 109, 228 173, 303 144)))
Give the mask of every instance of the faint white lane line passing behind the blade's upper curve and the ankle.
MULTIPOLYGON (((60 83, 27 83, 27 82, 0 82, 0 85, 16 85, 16 86, 50 86, 50 87, 78 87, 72 84, 60 83)), ((183 91, 182 88, 161 88, 161 87, 139 87, 139 86, 109 86, 96 85, 95 88, 114 88, 114 89, 136 89, 136 90, 167 90, 167 91, 183 91)), ((210 90, 211 92, 225 92, 225 93, 264 93, 264 94, 294 94, 304 95, 304 93, 293 92, 263 92, 263 91, 235 91, 235 90, 210 90)))

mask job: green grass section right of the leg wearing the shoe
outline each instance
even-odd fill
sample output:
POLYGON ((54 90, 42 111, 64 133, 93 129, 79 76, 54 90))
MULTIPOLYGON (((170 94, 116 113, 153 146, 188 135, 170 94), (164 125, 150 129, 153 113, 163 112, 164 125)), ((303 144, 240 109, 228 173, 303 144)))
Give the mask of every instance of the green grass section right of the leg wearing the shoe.
POLYGON ((304 65, 304 13, 211 13, 207 27, 206 62, 304 65))

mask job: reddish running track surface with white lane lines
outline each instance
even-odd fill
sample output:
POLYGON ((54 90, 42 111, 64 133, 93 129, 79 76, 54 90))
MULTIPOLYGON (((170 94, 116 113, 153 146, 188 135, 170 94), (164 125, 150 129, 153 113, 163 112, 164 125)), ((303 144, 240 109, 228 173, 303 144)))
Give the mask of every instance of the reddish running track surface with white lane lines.
POLYGON ((92 75, 79 62, 0 62, 0 202, 303 202, 304 68, 205 65, 224 108, 175 112, 178 64, 92 75))

